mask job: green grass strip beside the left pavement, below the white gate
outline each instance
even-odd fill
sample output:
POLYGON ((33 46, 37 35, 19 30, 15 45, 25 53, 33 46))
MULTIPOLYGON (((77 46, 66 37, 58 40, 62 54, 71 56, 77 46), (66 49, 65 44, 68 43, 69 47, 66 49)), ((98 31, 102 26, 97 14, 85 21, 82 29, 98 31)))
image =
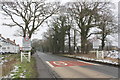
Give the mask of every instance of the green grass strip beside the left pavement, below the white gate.
POLYGON ((37 71, 35 67, 35 59, 32 57, 31 62, 23 61, 16 64, 18 66, 18 72, 14 73, 14 78, 20 78, 20 75, 23 73, 25 78, 36 78, 37 71))

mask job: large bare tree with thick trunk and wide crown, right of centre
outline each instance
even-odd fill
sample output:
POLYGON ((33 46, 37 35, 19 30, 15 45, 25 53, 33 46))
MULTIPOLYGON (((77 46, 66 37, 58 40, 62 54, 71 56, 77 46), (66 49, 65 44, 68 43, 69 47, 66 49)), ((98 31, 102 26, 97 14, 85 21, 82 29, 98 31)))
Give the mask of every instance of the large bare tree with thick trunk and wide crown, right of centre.
POLYGON ((87 53, 88 38, 94 34, 89 34, 92 27, 100 25, 101 12, 108 9, 108 2, 74 2, 68 4, 68 10, 72 17, 74 17, 75 23, 81 35, 81 52, 87 53))

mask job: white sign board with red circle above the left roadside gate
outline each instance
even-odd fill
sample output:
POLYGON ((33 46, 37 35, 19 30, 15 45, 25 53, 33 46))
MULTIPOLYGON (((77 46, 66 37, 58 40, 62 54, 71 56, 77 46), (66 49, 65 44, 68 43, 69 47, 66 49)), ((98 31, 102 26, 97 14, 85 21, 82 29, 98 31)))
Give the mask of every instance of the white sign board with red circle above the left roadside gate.
POLYGON ((24 51, 31 50, 31 39, 29 39, 29 37, 23 38, 23 47, 22 47, 22 49, 24 51))

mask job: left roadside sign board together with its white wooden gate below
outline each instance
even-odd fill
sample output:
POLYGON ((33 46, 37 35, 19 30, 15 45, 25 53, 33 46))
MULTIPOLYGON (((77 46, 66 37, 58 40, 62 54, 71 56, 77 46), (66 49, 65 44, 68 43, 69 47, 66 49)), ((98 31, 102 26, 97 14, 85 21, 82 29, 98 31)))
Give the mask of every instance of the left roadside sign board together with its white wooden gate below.
POLYGON ((21 62, 23 62, 23 59, 26 59, 30 62, 31 58, 31 39, 29 37, 23 38, 23 47, 21 52, 21 62))

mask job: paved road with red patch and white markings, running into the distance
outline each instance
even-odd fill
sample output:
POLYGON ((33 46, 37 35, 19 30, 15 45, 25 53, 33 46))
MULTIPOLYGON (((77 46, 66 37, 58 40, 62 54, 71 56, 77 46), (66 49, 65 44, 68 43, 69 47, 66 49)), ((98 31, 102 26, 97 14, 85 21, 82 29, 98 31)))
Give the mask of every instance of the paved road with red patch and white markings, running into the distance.
MULTIPOLYGON (((116 67, 84 62, 42 52, 37 52, 36 55, 58 78, 118 78, 118 68, 116 67)), ((44 72, 46 69, 45 67, 43 68, 44 72)), ((43 78, 44 76, 45 74, 43 74, 43 78)))

